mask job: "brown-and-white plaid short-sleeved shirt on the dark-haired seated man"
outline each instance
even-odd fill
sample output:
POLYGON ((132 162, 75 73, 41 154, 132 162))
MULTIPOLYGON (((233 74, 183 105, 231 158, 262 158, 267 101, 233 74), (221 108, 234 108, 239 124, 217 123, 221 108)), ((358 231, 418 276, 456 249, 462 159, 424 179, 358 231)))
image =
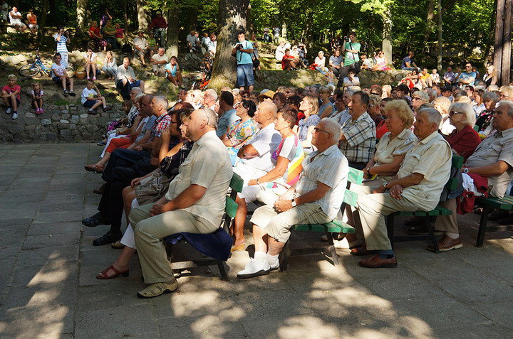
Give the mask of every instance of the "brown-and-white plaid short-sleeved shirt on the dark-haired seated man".
POLYGON ((348 119, 342 125, 342 134, 347 141, 340 142, 338 147, 348 161, 368 163, 375 151, 375 123, 365 112, 358 119, 348 119))

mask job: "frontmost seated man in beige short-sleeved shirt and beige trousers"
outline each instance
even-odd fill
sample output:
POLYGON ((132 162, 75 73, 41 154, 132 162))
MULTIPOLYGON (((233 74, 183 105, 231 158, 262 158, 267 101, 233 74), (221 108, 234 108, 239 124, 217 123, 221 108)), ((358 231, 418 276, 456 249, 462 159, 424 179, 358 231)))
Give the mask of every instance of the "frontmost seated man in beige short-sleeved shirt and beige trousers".
POLYGON ((180 165, 167 194, 155 204, 130 212, 135 244, 145 283, 139 298, 152 298, 175 291, 178 283, 167 260, 164 237, 180 232, 212 233, 224 214, 224 201, 232 180, 232 161, 226 146, 216 136, 217 115, 212 109, 197 109, 181 128, 195 141, 180 165))

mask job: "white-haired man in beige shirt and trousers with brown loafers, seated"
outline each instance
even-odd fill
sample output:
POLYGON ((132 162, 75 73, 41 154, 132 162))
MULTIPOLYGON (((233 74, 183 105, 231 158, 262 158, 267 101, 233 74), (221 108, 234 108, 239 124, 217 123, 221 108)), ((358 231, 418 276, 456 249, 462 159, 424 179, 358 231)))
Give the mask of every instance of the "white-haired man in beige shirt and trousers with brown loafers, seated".
POLYGON ((398 178, 383 183, 373 194, 359 195, 357 209, 366 244, 351 250, 354 255, 377 252, 361 259, 363 267, 397 267, 388 239, 385 215, 397 211, 433 210, 450 176, 452 151, 438 133, 442 117, 434 108, 421 109, 413 123, 418 137, 406 154, 398 178))

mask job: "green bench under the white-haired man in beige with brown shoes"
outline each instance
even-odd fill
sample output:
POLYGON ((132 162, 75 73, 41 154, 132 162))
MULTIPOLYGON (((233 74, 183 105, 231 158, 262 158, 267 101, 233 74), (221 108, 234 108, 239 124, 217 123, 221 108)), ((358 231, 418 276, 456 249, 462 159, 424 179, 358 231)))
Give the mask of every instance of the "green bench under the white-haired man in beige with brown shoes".
MULTIPOLYGON (((451 166, 451 173, 455 169, 460 169, 463 166, 463 157, 462 156, 452 156, 452 166, 451 166)), ((447 190, 455 190, 460 183, 458 183, 457 178, 455 178, 458 171, 454 171, 455 174, 453 176, 450 176, 447 183, 445 183, 445 188, 447 190)), ((394 242, 402 242, 402 241, 413 241, 413 240, 424 240, 426 238, 425 235, 409 235, 407 237, 394 237, 394 217, 396 215, 403 216, 403 217, 423 217, 423 220, 427 226, 428 231, 428 237, 431 241, 431 244, 433 245, 435 249, 435 253, 440 253, 440 249, 438 249, 437 240, 435 238, 435 230, 432 227, 431 217, 436 218, 439 215, 451 215, 452 211, 443 208, 442 206, 437 206, 434 210, 430 211, 415 211, 415 212, 394 212, 391 213, 386 217, 386 223, 387 223, 387 232, 388 232, 388 239, 390 239, 390 243, 392 244, 394 242)))

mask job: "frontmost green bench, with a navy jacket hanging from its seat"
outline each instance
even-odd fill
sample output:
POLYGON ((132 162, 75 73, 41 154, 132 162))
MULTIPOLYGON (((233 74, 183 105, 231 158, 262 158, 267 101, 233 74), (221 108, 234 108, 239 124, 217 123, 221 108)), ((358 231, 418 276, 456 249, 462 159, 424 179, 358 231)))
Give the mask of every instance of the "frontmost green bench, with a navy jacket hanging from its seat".
MULTIPOLYGON (((224 206, 224 230, 228 230, 230 224, 232 223, 232 218, 235 217, 235 213, 237 213, 237 203, 235 199, 237 198, 237 193, 242 192, 242 186, 244 185, 244 181, 237 174, 233 173, 232 181, 230 181, 229 187, 232 188, 232 191, 226 197, 226 204, 224 206)), ((172 245, 170 243, 166 243, 166 252, 167 257, 170 259, 172 255, 172 245)), ((227 271, 224 269, 224 262, 219 259, 207 257, 203 255, 202 259, 196 260, 187 260, 175 262, 170 259, 171 268, 173 271, 177 271, 180 273, 185 269, 190 269, 193 267, 203 267, 203 266, 217 266, 219 268, 219 273, 221 274, 222 280, 228 280, 227 271)))

